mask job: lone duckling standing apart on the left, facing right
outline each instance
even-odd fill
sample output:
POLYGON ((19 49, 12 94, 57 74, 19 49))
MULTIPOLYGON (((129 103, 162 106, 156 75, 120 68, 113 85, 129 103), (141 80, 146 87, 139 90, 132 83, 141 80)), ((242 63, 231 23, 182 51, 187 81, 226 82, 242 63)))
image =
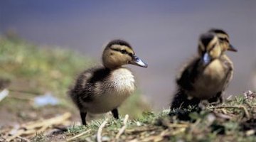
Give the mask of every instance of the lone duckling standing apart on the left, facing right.
POLYGON ((147 67, 124 40, 112 40, 107 44, 102 64, 82 72, 69 92, 80 110, 82 125, 86 125, 87 112, 102 114, 111 111, 114 118, 119 119, 117 108, 135 89, 134 75, 122 65, 147 67))

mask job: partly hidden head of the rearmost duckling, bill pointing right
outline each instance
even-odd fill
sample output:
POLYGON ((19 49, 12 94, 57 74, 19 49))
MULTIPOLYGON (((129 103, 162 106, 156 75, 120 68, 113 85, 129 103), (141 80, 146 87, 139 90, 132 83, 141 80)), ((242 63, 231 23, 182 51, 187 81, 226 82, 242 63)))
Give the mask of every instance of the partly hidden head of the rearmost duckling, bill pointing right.
POLYGON ((234 48, 233 45, 230 44, 229 35, 225 31, 223 31, 221 29, 218 29, 218 28, 212 28, 208 32, 215 33, 215 35, 217 35, 217 37, 219 39, 220 47, 224 51, 226 51, 226 50, 230 50, 230 51, 233 51, 233 52, 238 51, 237 49, 234 48))

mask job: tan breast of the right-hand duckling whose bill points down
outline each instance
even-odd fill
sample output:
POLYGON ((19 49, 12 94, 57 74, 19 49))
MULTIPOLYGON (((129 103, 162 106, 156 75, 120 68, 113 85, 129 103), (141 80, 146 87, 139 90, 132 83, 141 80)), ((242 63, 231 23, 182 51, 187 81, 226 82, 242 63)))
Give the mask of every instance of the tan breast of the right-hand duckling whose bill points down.
POLYGON ((227 76, 231 73, 225 62, 214 60, 202 70, 201 75, 193 84, 194 90, 189 94, 199 99, 210 99, 225 89, 226 84, 229 83, 227 76))

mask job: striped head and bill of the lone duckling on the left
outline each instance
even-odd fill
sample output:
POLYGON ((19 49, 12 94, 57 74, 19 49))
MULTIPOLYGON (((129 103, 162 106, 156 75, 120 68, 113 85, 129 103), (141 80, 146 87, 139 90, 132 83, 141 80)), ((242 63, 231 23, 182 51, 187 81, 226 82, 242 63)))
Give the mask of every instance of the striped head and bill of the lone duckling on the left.
POLYGON ((110 69, 127 64, 147 67, 146 63, 135 55, 132 46, 124 40, 110 41, 103 51, 102 62, 105 67, 110 69))

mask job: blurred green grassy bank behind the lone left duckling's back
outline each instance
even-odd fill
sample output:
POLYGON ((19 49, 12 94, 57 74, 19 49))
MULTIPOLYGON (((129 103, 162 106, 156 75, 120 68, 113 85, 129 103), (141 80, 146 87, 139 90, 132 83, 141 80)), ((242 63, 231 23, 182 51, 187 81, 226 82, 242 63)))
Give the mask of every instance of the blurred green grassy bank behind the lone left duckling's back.
POLYGON ((39 48, 21 38, 8 36, 0 36, 0 53, 0 79, 11 82, 9 96, 0 102, 2 121, 31 121, 75 109, 66 92, 78 72, 92 60, 70 50, 39 48), (60 104, 35 107, 33 98, 47 92, 58 97, 60 104))

